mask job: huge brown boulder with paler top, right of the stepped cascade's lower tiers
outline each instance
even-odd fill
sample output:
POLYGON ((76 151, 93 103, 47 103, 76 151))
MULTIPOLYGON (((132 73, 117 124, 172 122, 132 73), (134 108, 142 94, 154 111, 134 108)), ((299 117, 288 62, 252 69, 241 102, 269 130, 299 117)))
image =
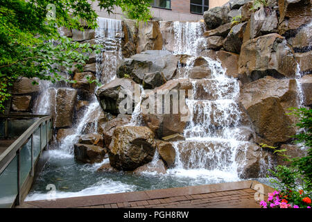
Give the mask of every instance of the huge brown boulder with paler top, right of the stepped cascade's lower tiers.
POLYGON ((296 130, 286 112, 297 106, 297 98, 295 80, 266 76, 243 85, 240 101, 253 123, 257 143, 273 146, 291 140, 296 130))

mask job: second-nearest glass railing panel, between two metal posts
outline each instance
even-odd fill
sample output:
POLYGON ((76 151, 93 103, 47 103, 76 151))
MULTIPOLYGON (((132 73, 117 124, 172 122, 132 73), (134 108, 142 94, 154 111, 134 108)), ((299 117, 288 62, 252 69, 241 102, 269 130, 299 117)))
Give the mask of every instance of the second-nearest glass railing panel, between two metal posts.
POLYGON ((31 138, 19 151, 19 161, 20 161, 20 183, 23 185, 26 180, 28 173, 31 171, 31 138))

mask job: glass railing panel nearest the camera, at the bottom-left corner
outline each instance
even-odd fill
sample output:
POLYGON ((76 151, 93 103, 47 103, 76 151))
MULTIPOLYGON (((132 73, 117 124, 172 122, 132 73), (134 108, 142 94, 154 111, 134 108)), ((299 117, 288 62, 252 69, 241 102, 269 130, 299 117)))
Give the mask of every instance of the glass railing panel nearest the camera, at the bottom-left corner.
POLYGON ((17 157, 0 174, 0 208, 9 208, 15 201, 17 190, 17 157))

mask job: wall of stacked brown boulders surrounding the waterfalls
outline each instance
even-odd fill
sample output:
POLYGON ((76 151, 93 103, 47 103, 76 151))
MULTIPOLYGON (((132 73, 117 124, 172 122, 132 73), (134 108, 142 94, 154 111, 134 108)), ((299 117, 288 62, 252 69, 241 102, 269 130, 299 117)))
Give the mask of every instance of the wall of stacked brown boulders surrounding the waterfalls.
MULTIPOLYGON (((257 177, 260 159, 263 157, 263 161, 268 162, 276 158, 270 151, 261 151, 258 145, 291 146, 290 136, 296 133, 296 128, 290 127, 295 119, 286 115, 288 108, 298 105, 311 108, 312 105, 311 15, 307 14, 311 12, 311 1, 268 1, 268 6, 253 11, 251 6, 250 1, 234 0, 205 12, 205 33, 198 49, 194 49, 199 50, 200 56, 193 61, 191 70, 185 68, 189 56, 172 53, 173 22, 136 24, 123 20, 123 33, 119 33, 123 60, 112 82, 94 92, 95 85, 85 81, 86 76, 96 78, 96 55, 92 53, 83 71, 73 70, 68 76, 76 80, 75 84, 58 83, 60 87, 51 90, 50 112, 56 117, 58 142, 73 134, 90 98, 96 94, 101 110, 94 111, 86 123, 85 135, 75 145, 78 160, 92 163, 110 157, 115 169, 132 171, 138 167, 145 169, 157 150, 163 163, 162 171, 174 167, 175 152, 171 143, 185 139, 182 133, 187 126, 187 122, 180 121, 181 113, 147 114, 141 117, 142 126, 125 126, 133 116, 119 113, 119 92, 122 89, 134 92, 136 83, 150 89, 149 96, 157 89, 192 89, 191 80, 179 77, 188 72, 191 79, 209 78, 211 70, 201 57, 206 56, 218 60, 227 76, 239 80, 240 124, 242 129, 248 128, 241 136, 250 143, 248 162, 241 171, 244 178, 257 177), (239 22, 232 22, 239 15, 239 22), (296 80, 298 74, 303 77, 296 80), (301 92, 304 92, 303 104, 298 99, 301 92), (94 126, 97 133, 89 135, 94 130, 88 129, 94 126)), ((63 29, 62 32, 73 41, 96 42, 92 30, 82 33, 63 29)), ((213 81, 202 80, 196 90, 198 98, 216 99, 213 81)), ((10 110, 34 111, 32 105, 40 93, 40 85, 31 85, 31 80, 22 78, 12 89, 10 110)), ((215 125, 217 123, 211 127, 218 128, 215 125)), ((237 160, 243 158, 241 156, 237 155, 237 160)), ((110 167, 102 168, 105 169, 110 167)))

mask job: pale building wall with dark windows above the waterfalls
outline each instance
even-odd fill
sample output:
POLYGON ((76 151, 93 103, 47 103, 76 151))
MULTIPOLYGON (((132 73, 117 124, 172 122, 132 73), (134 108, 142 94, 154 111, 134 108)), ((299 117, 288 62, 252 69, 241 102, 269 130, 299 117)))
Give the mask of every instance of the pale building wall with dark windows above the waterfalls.
MULTIPOLYGON (((203 13, 209 8, 223 6, 228 0, 151 0, 151 12, 153 17, 163 21, 199 21, 203 19, 203 13)), ((120 8, 116 8, 113 14, 100 10, 94 2, 93 8, 100 17, 111 19, 123 19, 120 8)))

